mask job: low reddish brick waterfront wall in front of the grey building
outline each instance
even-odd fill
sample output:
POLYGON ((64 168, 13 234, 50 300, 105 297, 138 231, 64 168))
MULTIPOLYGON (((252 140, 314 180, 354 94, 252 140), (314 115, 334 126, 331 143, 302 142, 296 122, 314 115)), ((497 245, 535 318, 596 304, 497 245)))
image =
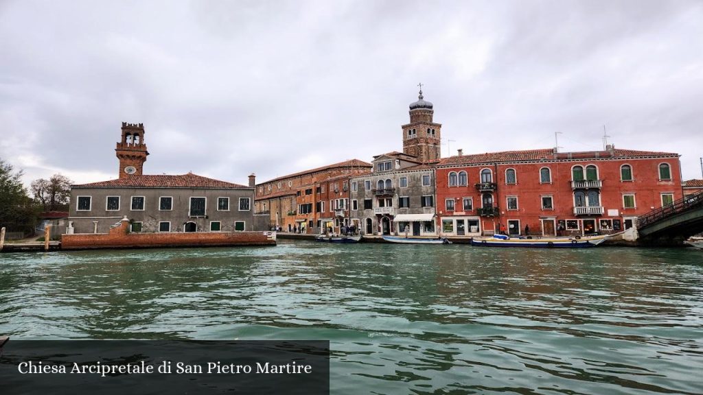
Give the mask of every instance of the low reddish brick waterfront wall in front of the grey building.
POLYGON ((61 249, 276 245, 276 236, 266 232, 127 233, 127 228, 129 222, 122 221, 110 233, 61 235, 61 249))

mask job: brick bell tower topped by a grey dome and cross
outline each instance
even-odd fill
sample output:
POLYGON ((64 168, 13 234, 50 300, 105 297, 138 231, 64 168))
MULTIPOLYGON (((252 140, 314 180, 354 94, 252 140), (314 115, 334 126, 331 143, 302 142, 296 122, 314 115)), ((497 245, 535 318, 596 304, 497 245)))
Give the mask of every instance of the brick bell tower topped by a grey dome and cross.
POLYGON ((423 99, 423 84, 418 86, 420 95, 410 105, 410 123, 403 125, 403 153, 430 162, 441 157, 441 124, 432 122, 432 103, 423 99))

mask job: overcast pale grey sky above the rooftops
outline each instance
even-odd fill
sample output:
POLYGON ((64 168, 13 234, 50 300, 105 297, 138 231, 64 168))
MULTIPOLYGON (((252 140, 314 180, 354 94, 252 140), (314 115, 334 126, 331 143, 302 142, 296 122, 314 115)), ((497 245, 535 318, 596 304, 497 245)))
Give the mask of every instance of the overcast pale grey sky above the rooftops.
POLYGON ((681 154, 702 178, 703 1, 0 0, 0 158, 33 179, 235 183, 402 150, 423 84, 442 156, 681 154))

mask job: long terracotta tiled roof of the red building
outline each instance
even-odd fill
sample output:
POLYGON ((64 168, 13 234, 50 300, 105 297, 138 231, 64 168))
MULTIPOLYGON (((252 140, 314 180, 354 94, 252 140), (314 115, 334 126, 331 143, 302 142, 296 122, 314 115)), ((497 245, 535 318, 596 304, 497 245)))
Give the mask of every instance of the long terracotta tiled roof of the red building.
POLYGON ((439 161, 437 166, 452 166, 456 164, 479 164, 493 162, 523 162, 537 160, 564 160, 564 159, 588 159, 588 158, 608 158, 608 157, 678 157, 676 153, 662 153, 656 151, 638 151, 615 149, 610 151, 587 151, 580 153, 557 153, 552 149, 542 150, 522 150, 503 151, 498 153, 483 153, 447 157, 439 161))

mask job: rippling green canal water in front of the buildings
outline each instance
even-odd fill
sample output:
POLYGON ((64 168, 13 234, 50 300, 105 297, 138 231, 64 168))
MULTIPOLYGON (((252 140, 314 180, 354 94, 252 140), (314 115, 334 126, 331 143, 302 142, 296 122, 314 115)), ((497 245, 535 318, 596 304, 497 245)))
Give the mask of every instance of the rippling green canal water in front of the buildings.
POLYGON ((332 394, 701 394, 702 316, 688 249, 0 255, 0 335, 329 339, 332 394))

